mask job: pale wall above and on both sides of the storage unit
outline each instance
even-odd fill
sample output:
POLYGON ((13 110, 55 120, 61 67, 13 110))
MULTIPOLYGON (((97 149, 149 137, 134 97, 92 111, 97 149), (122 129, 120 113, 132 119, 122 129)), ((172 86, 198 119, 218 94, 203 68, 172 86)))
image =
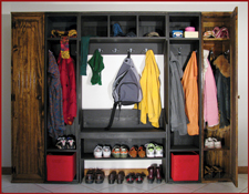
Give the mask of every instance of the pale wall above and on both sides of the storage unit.
MULTIPOLYGON (((238 7, 238 165, 248 165, 248 2, 2 2, 2 166, 11 166, 11 16, 35 11, 232 11, 238 7)), ((97 164, 95 164, 97 165, 97 164)), ((133 165, 133 164, 128 164, 133 165)), ((93 166, 94 167, 94 166, 93 166)))

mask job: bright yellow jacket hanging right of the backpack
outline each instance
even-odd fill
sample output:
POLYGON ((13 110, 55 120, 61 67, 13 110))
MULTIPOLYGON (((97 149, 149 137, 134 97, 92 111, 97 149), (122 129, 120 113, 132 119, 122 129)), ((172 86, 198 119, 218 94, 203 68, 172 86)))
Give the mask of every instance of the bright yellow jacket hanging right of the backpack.
MULTIPOLYGON (((154 53, 152 50, 148 50, 146 52, 145 68, 139 81, 143 99, 138 104, 138 109, 141 110, 141 122, 146 124, 148 114, 148 121, 155 127, 159 127, 158 121, 162 111, 159 74, 154 53)), ((137 109, 136 105, 134 108, 137 109)))

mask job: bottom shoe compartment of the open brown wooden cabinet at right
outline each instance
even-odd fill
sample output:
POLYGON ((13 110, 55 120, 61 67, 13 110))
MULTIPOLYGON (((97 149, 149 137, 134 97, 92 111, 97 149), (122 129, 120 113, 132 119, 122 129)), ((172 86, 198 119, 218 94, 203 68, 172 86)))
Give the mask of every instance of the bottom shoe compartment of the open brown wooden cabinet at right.
POLYGON ((230 150, 217 150, 217 151, 205 151, 204 152, 204 170, 203 177, 205 181, 217 180, 217 181, 229 181, 230 178, 230 150), (205 166, 208 166, 210 170, 214 166, 217 166, 221 170, 220 173, 210 173, 211 175, 205 175, 205 166))

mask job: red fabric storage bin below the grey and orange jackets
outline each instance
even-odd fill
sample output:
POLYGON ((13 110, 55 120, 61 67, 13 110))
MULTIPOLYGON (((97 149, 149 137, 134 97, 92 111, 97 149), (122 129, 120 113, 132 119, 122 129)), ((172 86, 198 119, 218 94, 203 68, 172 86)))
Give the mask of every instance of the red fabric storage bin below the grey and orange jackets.
POLYGON ((172 153, 173 181, 198 181, 199 155, 196 152, 172 153))

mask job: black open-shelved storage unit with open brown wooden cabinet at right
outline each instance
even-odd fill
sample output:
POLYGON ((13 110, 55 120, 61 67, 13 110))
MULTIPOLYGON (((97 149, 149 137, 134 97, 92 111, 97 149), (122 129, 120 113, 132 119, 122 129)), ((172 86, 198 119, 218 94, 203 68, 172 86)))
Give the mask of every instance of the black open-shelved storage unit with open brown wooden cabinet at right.
MULTIPOLYGON (((237 12, 236 12, 237 13, 237 12)), ((201 12, 46 12, 44 13, 44 159, 46 155, 75 155, 76 175, 72 182, 81 183, 84 181, 85 162, 86 161, 108 161, 115 162, 124 160, 162 160, 165 181, 168 183, 180 182, 216 182, 232 181, 238 186, 237 170, 237 21, 236 13, 201 13, 201 12), (232 16, 232 17, 231 17, 232 16), (236 16, 236 17, 234 17, 236 16), (230 18, 231 17, 231 18, 230 18), (123 34, 114 37, 113 24, 118 23, 122 27, 123 34), (203 33, 207 29, 216 25, 229 27, 229 40, 205 40, 203 33), (198 31, 198 38, 173 38, 173 30, 184 30, 186 27, 195 27, 198 31), (235 27, 235 28, 234 28, 235 27), (59 150, 55 147, 55 140, 50 137, 48 133, 48 67, 49 51, 58 59, 61 51, 61 38, 51 35, 52 30, 69 31, 76 30, 74 38, 69 38, 70 57, 75 64, 75 82, 76 82, 76 118, 72 125, 66 125, 65 135, 73 134, 75 136, 75 150, 59 150), (156 32, 157 35, 149 35, 149 32, 156 32), (153 50, 155 54, 164 55, 164 108, 159 119, 159 127, 155 129, 151 123, 144 125, 138 124, 137 110, 122 109, 120 120, 117 121, 118 110, 113 126, 105 130, 110 121, 112 108, 110 109, 87 109, 83 106, 85 94, 83 75, 81 75, 81 51, 82 37, 90 37, 89 54, 93 54, 97 49, 101 54, 124 54, 129 51, 131 54, 144 54, 147 50, 153 50), (235 39, 235 40, 234 40, 235 39), (214 48, 215 54, 229 50, 231 64, 231 124, 225 134, 225 145, 220 150, 207 150, 204 146, 205 139, 212 135, 204 126, 203 119, 203 89, 201 89, 201 70, 203 70, 203 49, 214 48), (177 57, 183 63, 185 70, 187 62, 193 52, 197 59, 197 85, 198 101, 198 126, 199 134, 179 135, 173 132, 170 126, 170 92, 169 88, 169 57, 170 52, 177 57), (112 147, 115 144, 143 145, 148 142, 156 142, 164 146, 163 157, 144 157, 144 159, 95 159, 93 156, 94 147, 97 144, 108 144, 112 147), (198 155, 198 178, 197 181, 174 181, 172 177, 172 155, 186 155, 193 153, 198 155), (228 157, 227 157, 228 156, 228 157), (221 178, 205 178, 205 165, 216 165, 216 160, 225 169, 226 176, 221 178), (228 159, 228 160, 225 160, 228 159)), ((155 33, 154 33, 155 35, 155 33)), ((15 45, 12 45, 14 49, 15 45)), ((13 60, 14 55, 12 55, 13 60)), ((106 64, 107 65, 107 64, 106 64)), ((110 76, 115 76, 110 74, 110 76)), ((112 84, 112 83, 110 83, 112 84)), ((102 99, 103 103, 105 100, 102 99)), ((215 133, 215 132, 214 132, 215 133)), ((215 134, 219 135, 219 134, 215 134)), ((46 164, 44 166, 43 178, 46 180, 46 164)), ((180 172, 179 172, 180 173, 180 172)), ((53 181, 49 182, 53 183, 53 181)), ((55 182, 54 182, 55 183, 55 182)), ((68 182, 63 182, 68 183, 68 182)))

